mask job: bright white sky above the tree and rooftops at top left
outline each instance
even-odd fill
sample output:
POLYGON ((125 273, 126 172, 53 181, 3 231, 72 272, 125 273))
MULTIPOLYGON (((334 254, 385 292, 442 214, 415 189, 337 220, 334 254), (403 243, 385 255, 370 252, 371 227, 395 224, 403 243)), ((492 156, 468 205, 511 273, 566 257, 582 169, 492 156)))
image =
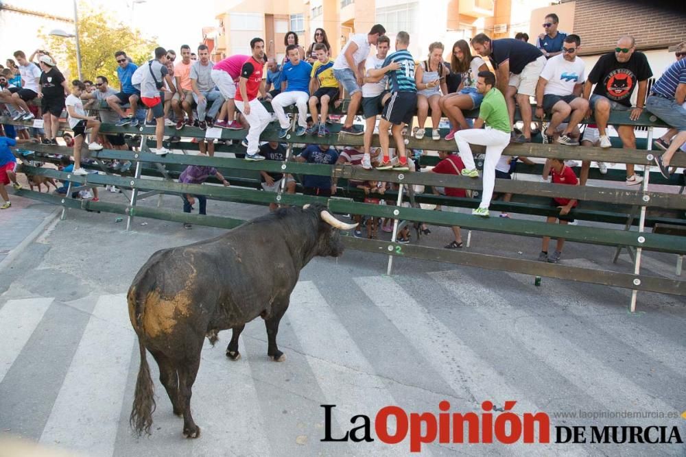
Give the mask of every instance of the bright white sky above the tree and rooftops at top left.
MULTIPOLYGON (((138 27, 144 36, 157 36, 158 45, 174 49, 177 53, 181 45, 189 45, 192 49, 200 44, 202 27, 217 25, 215 0, 136 0, 139 1, 141 3, 133 0, 88 0, 88 4, 138 27)), ((5 3, 59 16, 73 16, 70 0, 5 0, 5 3)), ((7 38, 0 31, 0 40, 7 38)))

